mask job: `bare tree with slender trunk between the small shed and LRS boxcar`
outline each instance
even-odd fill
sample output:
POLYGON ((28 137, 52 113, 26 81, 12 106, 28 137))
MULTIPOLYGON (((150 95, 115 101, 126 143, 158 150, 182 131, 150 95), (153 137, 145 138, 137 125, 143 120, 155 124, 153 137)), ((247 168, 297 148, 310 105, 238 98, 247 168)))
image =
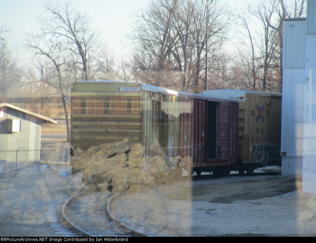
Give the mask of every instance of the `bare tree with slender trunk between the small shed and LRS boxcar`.
MULTIPOLYGON (((45 5, 46 11, 38 17, 39 32, 27 37, 29 48, 36 55, 45 56, 55 69, 54 79, 48 83, 61 96, 66 118, 67 141, 70 141, 67 98, 72 82, 94 79, 97 62, 94 54, 99 44, 96 31, 89 27, 86 14, 75 11, 69 3, 45 5), (81 70, 81 75, 78 74, 81 70)), ((68 100, 69 102, 69 100, 68 100)))

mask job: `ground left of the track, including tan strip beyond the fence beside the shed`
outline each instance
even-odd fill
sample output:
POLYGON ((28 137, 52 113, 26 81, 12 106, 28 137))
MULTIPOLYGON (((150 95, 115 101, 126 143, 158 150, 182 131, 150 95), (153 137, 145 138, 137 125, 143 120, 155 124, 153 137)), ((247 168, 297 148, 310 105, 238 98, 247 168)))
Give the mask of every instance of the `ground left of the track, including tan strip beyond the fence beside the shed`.
POLYGON ((85 190, 81 177, 57 175, 69 147, 64 122, 45 126, 41 135, 41 164, 18 163, 15 175, 15 165, 0 163, 0 236, 60 236, 48 223, 48 208, 85 190))

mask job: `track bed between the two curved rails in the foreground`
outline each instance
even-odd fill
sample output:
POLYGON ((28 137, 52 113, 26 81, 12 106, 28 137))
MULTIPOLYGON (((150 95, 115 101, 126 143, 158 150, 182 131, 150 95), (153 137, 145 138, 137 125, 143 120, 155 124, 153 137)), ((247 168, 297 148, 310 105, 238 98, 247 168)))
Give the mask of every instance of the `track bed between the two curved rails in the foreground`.
POLYGON ((120 215, 120 221, 118 221, 111 216, 111 213, 108 213, 108 202, 112 196, 110 192, 95 192, 72 197, 64 204, 64 217, 71 228, 84 236, 147 236, 124 224, 124 221, 129 220, 127 215, 120 215))

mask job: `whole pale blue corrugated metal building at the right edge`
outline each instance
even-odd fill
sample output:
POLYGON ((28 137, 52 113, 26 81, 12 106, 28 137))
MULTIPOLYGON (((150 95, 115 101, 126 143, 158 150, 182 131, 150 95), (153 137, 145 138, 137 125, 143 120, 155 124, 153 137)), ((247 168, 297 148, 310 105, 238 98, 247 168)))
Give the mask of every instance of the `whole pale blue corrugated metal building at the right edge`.
POLYGON ((302 175, 303 191, 316 193, 316 0, 306 19, 284 23, 282 98, 282 174, 302 175))

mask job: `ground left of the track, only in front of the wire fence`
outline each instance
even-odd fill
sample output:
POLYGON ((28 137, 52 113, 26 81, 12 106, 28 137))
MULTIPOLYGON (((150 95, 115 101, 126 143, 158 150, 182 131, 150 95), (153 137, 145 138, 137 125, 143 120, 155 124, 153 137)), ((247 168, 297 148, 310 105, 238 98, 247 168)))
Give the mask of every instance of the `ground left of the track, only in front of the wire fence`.
MULTIPOLYGON (((43 164, 44 165, 44 164, 43 164)), ((46 213, 52 203, 62 205, 70 192, 83 190, 80 177, 57 176, 57 168, 28 167, 0 173, 0 236, 60 236, 50 227, 46 213), (67 185, 67 186, 66 186, 67 185), (69 189, 69 190, 68 190, 69 189)), ((63 168, 63 167, 61 167, 63 168)))

